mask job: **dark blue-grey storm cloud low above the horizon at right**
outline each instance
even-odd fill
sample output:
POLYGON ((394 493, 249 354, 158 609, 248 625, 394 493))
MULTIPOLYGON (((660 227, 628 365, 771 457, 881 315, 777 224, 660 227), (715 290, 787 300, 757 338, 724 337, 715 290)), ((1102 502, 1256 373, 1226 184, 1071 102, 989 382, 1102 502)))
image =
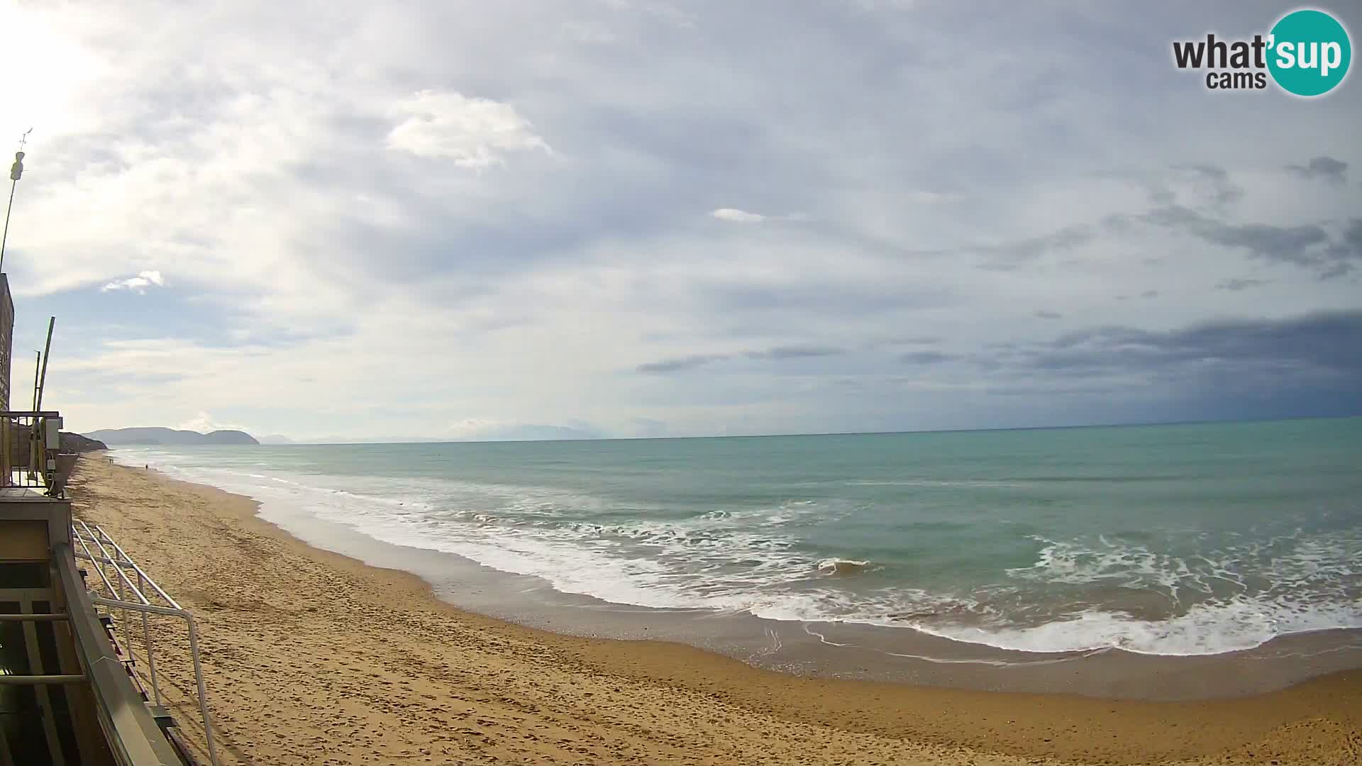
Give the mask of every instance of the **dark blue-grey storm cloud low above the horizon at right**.
POLYGON ((1163 333, 1092 327, 998 361, 1072 378, 1242 372, 1280 380, 1324 375, 1362 387, 1362 311, 1219 320, 1163 333))

